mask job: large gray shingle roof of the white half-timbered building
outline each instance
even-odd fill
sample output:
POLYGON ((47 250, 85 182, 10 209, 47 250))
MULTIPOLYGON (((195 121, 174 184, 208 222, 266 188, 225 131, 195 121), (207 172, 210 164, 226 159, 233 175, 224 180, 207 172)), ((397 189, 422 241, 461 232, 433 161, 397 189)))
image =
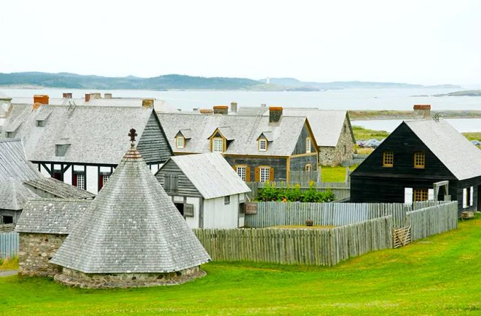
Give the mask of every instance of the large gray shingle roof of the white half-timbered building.
POLYGON ((5 127, 21 122, 16 137, 23 139, 30 161, 117 164, 128 148, 126 128, 135 128, 140 138, 152 113, 142 107, 43 105, 25 109, 5 127), (50 113, 45 126, 36 126, 45 113, 50 113), (56 144, 65 139, 71 145, 65 157, 56 157, 56 144))

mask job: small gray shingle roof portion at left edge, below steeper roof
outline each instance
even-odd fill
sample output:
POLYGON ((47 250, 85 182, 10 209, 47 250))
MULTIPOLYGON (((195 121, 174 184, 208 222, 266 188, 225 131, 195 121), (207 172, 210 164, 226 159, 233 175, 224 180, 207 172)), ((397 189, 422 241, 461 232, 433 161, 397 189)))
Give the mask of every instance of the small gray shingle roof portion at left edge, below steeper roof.
POLYGON ((27 199, 34 198, 38 195, 25 188, 18 179, 0 181, 0 209, 20 211, 27 199))

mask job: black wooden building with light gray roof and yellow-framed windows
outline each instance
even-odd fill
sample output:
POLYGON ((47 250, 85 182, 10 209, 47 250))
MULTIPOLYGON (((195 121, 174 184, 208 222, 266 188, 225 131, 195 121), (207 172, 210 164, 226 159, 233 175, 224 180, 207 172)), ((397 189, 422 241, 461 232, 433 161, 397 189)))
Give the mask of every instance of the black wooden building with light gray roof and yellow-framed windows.
POLYGON ((459 212, 480 210, 481 150, 443 120, 402 122, 351 174, 350 201, 443 200, 445 187, 434 196, 440 181, 459 212))

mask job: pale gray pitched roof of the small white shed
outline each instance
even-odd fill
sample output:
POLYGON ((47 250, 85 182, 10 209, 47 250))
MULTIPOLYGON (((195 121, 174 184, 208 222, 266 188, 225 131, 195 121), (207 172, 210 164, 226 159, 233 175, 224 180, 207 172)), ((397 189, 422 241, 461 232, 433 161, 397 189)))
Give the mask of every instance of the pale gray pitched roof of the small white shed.
POLYGON ((170 159, 188 177, 204 199, 251 191, 219 153, 182 155, 170 159))

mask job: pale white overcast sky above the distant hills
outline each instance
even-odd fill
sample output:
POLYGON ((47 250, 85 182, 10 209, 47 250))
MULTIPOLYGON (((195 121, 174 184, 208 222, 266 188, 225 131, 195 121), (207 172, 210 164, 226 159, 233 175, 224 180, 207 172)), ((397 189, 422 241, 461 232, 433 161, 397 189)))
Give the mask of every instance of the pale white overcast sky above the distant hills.
POLYGON ((3 1, 0 72, 481 84, 481 1, 3 1))

